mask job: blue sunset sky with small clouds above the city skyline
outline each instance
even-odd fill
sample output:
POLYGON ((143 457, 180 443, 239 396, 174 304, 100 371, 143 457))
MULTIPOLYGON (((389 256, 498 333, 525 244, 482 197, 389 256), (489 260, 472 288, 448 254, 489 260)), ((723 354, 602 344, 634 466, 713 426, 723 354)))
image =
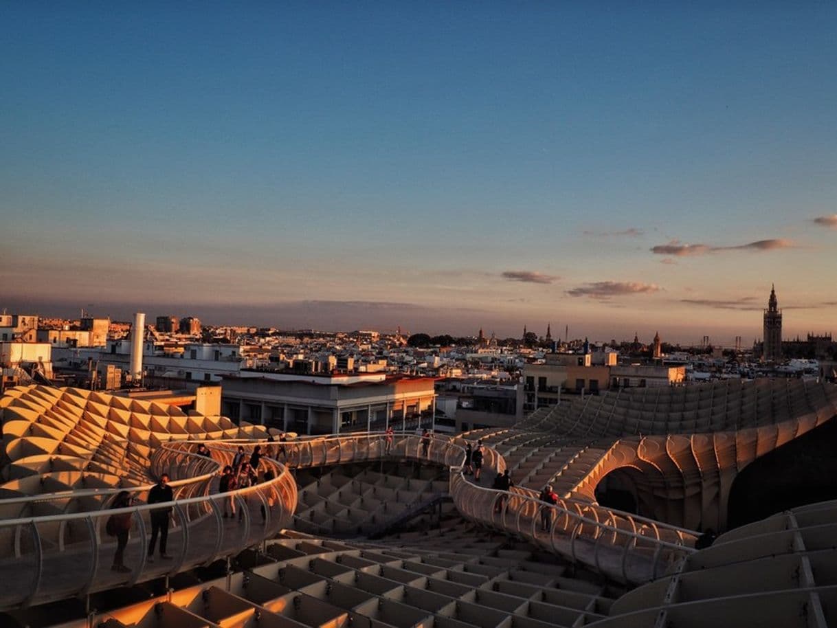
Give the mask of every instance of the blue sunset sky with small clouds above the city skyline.
POLYGON ((3 3, 0 308, 837 332, 837 4, 694 4, 3 3))

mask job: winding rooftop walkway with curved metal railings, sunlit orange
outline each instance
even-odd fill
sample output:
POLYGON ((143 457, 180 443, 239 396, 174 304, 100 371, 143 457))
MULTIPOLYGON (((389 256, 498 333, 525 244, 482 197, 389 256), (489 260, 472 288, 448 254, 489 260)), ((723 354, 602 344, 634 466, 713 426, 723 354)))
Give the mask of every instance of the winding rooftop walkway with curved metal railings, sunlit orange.
MULTIPOLYGON (((418 435, 384 434, 304 438, 284 443, 255 440, 176 441, 162 445, 151 458, 151 473, 167 472, 177 490, 167 504, 106 509, 121 489, 62 492, 14 498, 18 504, 73 502, 77 512, 18 517, 0 521, 0 608, 41 604, 86 595, 119 585, 136 584, 231 558, 284 528, 295 511, 296 485, 290 469, 347 462, 392 459, 429 461, 450 469, 449 492, 463 516, 489 528, 525 538, 554 553, 597 569, 609 578, 639 584, 665 573, 694 551, 690 531, 588 502, 561 499, 554 506, 537 493, 513 488, 495 491, 470 481, 463 473, 461 439, 434 437, 426 452, 418 435), (213 459, 198 456, 198 442, 213 459), (218 470, 229 464, 239 446, 249 453, 262 447, 264 469, 275 478, 233 492, 212 492, 218 470), (89 500, 89 502, 85 502, 89 500), (226 517, 234 510, 235 517, 226 517), (147 554, 151 512, 171 508, 168 534, 171 560, 151 562, 147 554), (541 528, 543 512, 548 525, 541 528), (116 538, 105 534, 114 514, 131 514, 130 540, 124 562, 128 571, 110 568, 116 538), (240 518, 239 518, 240 517, 240 518), (5 551, 3 551, 5 548, 5 551)), ((501 472, 506 461, 485 449, 484 473, 501 472)), ((126 488, 146 497, 150 486, 126 488)), ((2 501, 0 501, 2 504, 2 501)))

